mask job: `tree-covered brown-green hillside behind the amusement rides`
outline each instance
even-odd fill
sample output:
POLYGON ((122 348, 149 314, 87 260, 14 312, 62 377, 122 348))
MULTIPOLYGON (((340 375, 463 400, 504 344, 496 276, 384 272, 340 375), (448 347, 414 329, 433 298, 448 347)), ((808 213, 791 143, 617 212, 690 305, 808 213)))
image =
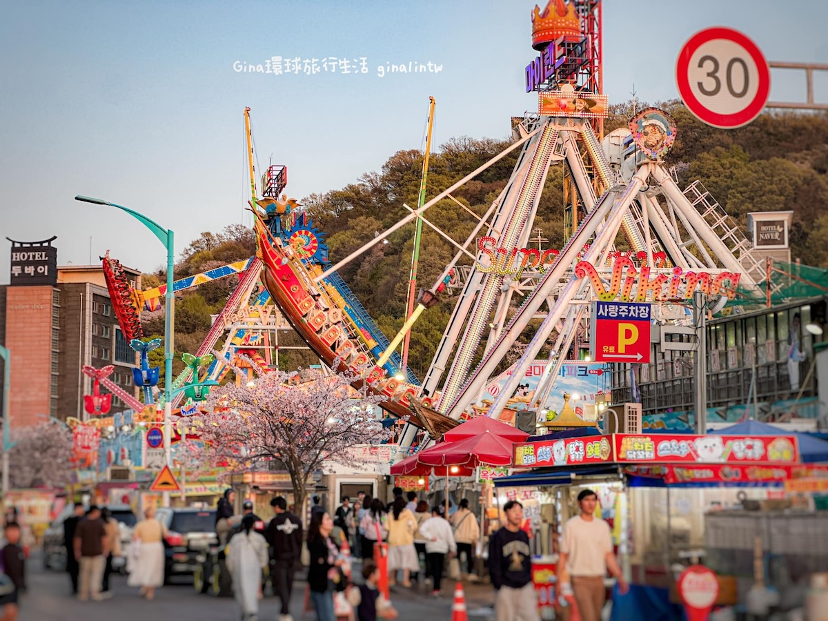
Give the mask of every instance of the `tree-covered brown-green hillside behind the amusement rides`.
MULTIPOLYGON (((638 103, 638 109, 647 104, 638 103)), ((810 265, 828 265, 828 117, 825 114, 764 113, 753 123, 735 130, 717 130, 696 120, 676 101, 657 103, 676 118, 678 136, 667 157, 676 166, 680 185, 701 179, 710 193, 742 226, 750 211, 792 209, 792 257, 810 265)), ((632 103, 613 107, 605 132, 626 126, 632 103)), ((504 119, 504 126, 508 119, 504 119)), ((426 198, 439 193, 508 147, 509 139, 451 138, 431 156, 426 198)), ((484 214, 506 185, 516 152, 481 173, 428 210, 426 217, 460 242, 474 228, 472 214, 484 214)), ((313 194, 301 203, 315 227, 327 233, 330 260, 343 258, 381 234, 416 207, 422 153, 393 154, 380 171, 366 172, 340 190, 313 194)), ((551 166, 538 209, 535 228, 541 229, 542 248, 561 248, 563 238, 563 169, 551 166)), ((533 237, 537 233, 533 233, 533 237)), ((402 325, 411 266, 414 225, 392 233, 387 243, 339 271, 380 328, 391 337, 402 325)), ((534 244, 533 244, 534 245, 534 244)), ((224 263, 248 258, 255 251, 253 233, 240 225, 221 233, 202 233, 190 243, 176 264, 176 278, 203 272, 224 263)), ((423 228, 419 286, 431 287, 455 249, 427 226, 423 228)), ((465 259, 469 263, 469 259, 465 259)), ((145 276, 159 282, 163 273, 145 276)), ((195 352, 209 329, 211 313, 224 305, 235 277, 188 291, 176 301, 176 350, 195 352)), ((148 284, 147 284, 148 283, 148 284)), ((455 291, 456 295, 456 291, 455 291)), ((422 378, 456 298, 421 315, 412 330, 409 365, 422 378)), ((163 334, 163 316, 145 314, 147 335, 163 334)), ((295 335, 280 337, 282 344, 300 344, 295 335), (294 339, 291 341, 291 339, 294 339)), ((516 355, 520 350, 517 344, 516 355)), ((157 351, 157 350, 156 350, 157 351)), ((280 355, 282 368, 314 362, 296 350, 280 355)), ((180 364, 180 363, 179 363, 180 364)), ((177 371, 177 368, 176 368, 177 371)))

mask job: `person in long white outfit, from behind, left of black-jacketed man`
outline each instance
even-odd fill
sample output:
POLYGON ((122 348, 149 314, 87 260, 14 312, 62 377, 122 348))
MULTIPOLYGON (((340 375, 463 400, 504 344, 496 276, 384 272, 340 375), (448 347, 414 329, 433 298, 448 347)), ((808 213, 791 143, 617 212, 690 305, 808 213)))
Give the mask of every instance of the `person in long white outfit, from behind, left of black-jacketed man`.
POLYGON ((258 619, 258 600, 262 594, 262 570, 267 567, 267 542, 253 525, 258 518, 246 515, 242 531, 230 538, 227 569, 233 576, 233 592, 242 608, 242 621, 258 619))

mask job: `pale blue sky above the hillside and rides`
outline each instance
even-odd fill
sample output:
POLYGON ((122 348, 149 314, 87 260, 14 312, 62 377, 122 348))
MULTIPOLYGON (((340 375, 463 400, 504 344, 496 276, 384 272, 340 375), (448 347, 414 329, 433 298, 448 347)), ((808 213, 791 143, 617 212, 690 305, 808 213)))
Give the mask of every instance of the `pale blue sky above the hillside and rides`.
MULTIPOLYGON (((378 170, 424 144, 428 97, 435 142, 505 137, 509 117, 537 108, 523 68, 535 2, 7 2, 0 22, 0 233, 58 235, 58 262, 97 262, 108 248, 152 270, 164 251, 92 195, 137 209, 176 232, 242 222, 249 184, 243 109, 252 108, 258 164, 286 164, 301 198, 378 170), (272 56, 320 59, 315 75, 236 72, 272 56), (368 73, 325 71, 323 57, 365 58, 368 73), (378 65, 442 65, 440 73, 378 75, 378 65)), ((609 0, 604 90, 647 101, 676 97, 684 41, 706 26, 753 38, 768 60, 828 61, 824 2, 609 0), (809 7, 807 11, 804 7, 809 7)), ((773 72, 771 99, 802 99, 804 78, 773 72)), ((816 79, 828 100, 828 76, 816 79)), ((681 128, 680 130, 681 131, 681 128)), ((4 242, 7 243, 7 242, 4 242)), ((5 248, 8 248, 6 246, 5 248)), ((9 253, 0 250, 0 283, 9 253)))

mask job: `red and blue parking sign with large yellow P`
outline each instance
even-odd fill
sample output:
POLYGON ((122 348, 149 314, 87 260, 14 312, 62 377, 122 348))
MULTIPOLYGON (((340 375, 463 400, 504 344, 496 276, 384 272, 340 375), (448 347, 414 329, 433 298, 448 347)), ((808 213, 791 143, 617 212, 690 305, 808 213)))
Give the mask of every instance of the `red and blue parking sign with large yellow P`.
POLYGON ((633 302, 592 303, 590 340, 595 362, 650 362, 650 305, 633 302))

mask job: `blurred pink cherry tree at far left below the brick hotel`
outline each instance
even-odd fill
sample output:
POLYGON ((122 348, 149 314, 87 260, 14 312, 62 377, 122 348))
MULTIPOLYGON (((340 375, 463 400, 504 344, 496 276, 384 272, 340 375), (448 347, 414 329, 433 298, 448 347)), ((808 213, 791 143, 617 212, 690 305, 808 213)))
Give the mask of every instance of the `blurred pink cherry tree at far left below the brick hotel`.
POLYGON ((72 433, 57 421, 12 431, 9 484, 12 488, 62 488, 72 477, 72 433))

